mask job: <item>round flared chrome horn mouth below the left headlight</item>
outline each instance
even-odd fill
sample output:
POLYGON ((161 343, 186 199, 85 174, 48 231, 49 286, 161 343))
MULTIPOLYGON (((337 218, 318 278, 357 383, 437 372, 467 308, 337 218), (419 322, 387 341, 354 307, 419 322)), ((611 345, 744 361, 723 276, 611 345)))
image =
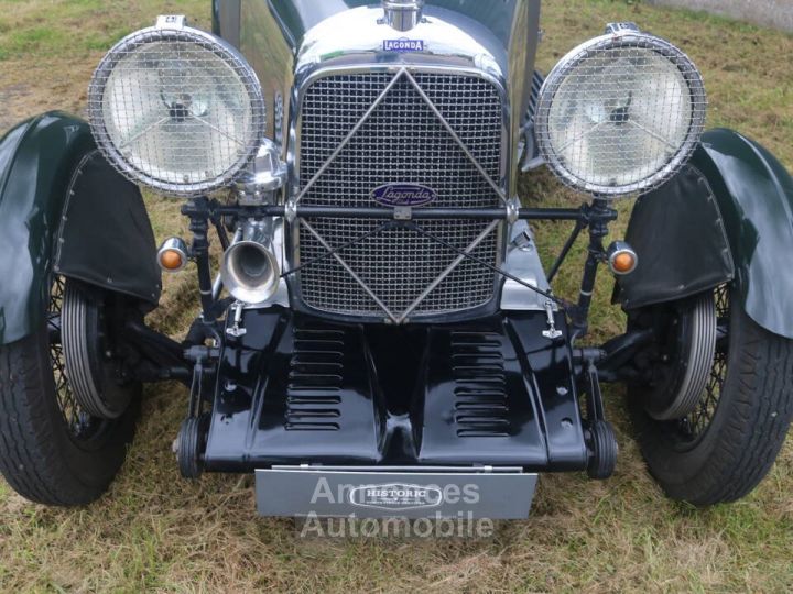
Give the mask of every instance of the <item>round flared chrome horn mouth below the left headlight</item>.
POLYGON ((220 277, 238 301, 262 304, 273 297, 281 272, 275 254, 256 241, 235 243, 224 255, 220 277))

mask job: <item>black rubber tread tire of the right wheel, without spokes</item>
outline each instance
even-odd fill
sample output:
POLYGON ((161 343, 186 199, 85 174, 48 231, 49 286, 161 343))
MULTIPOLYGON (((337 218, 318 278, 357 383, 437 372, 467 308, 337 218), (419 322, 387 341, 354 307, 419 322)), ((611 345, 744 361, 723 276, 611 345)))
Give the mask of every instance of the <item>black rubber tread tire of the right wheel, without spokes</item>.
POLYGON ((738 352, 730 354, 711 422, 726 417, 704 438, 709 448, 703 449, 705 460, 675 453, 643 411, 640 395, 629 396, 650 472, 671 497, 697 506, 735 502, 757 487, 773 466, 793 418, 793 341, 762 329, 742 310, 734 316, 738 319, 730 332, 737 332, 737 340, 731 349, 738 352))

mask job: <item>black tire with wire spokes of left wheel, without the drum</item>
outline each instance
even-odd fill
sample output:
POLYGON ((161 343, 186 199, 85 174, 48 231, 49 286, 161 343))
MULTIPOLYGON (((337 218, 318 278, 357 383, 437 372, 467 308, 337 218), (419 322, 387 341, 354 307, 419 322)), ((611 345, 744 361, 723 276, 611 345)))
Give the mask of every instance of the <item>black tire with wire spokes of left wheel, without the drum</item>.
POLYGON ((0 472, 23 497, 79 506, 99 498, 123 463, 140 410, 140 386, 113 420, 90 417, 68 392, 47 322, 0 348, 0 472))

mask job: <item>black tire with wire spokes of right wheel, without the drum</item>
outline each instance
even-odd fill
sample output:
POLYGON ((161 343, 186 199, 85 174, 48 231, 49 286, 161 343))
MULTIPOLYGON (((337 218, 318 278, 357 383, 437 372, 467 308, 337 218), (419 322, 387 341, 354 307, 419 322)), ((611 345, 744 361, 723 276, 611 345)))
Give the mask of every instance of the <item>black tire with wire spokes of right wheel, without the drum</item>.
POLYGON ((655 420, 641 386, 629 388, 650 472, 670 497, 696 506, 749 494, 773 465, 793 417, 793 341, 754 323, 728 287, 717 297, 728 334, 717 343, 713 381, 692 415, 655 420))

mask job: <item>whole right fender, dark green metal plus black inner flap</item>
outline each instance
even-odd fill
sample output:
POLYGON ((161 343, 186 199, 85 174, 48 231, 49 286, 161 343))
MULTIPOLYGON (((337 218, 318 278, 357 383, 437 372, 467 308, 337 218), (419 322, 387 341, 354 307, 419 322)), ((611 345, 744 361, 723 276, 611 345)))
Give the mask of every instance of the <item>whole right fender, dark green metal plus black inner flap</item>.
POLYGON ((626 240, 639 255, 618 280, 626 310, 735 282, 752 320, 793 339, 793 178, 758 143, 705 133, 677 176, 639 198, 626 240))

